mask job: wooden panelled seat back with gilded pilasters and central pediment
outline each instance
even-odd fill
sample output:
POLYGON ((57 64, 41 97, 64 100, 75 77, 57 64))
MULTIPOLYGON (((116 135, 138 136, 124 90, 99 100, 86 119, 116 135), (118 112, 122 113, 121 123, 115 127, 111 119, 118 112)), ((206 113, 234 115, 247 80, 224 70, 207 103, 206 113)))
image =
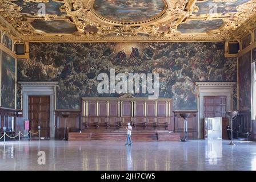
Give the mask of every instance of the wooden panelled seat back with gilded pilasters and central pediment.
POLYGON ((112 123, 119 123, 121 128, 126 128, 127 122, 131 122, 135 127, 141 125, 143 128, 147 127, 146 125, 149 123, 158 123, 159 126, 162 125, 167 129, 168 125, 171 125, 171 118, 173 118, 172 100, 158 98, 155 101, 150 101, 147 98, 135 98, 129 94, 118 98, 83 97, 81 115, 88 118, 89 123, 96 123, 97 119, 100 119, 101 122, 106 122, 109 126, 112 123), (97 110, 98 107, 99 110, 97 110), (105 116, 106 113, 107 116, 105 116))

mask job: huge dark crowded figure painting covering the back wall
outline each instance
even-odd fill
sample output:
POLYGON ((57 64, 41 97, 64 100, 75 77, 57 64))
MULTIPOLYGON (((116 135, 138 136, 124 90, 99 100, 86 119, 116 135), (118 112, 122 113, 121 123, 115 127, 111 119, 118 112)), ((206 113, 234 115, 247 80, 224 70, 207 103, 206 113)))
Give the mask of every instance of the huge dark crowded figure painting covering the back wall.
MULTIPOLYGON (((223 43, 30 43, 30 60, 18 61, 20 81, 59 81, 57 109, 80 109, 81 97, 98 94, 97 76, 158 73, 159 97, 174 109, 197 109, 195 81, 235 81, 236 59, 224 57, 223 43)), ((147 94, 134 94, 147 97, 147 94)))

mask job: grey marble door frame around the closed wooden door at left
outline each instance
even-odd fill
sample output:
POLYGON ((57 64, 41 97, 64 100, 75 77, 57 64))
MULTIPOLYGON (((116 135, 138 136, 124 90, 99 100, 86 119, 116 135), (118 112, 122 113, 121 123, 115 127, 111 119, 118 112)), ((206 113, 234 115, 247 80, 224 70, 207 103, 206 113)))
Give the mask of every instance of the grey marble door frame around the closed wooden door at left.
POLYGON ((50 138, 55 136, 55 96, 56 81, 19 81, 22 90, 22 110, 24 121, 29 119, 29 96, 50 96, 50 138))

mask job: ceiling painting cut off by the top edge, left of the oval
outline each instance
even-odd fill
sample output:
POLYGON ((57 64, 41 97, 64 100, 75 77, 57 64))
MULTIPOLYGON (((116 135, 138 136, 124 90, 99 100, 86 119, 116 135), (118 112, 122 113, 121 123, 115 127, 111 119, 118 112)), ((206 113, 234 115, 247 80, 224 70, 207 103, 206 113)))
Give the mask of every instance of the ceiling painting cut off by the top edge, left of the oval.
MULTIPOLYGON (((24 2, 23 0, 11 0, 16 5, 22 7, 21 12, 27 13, 31 15, 38 14, 38 10, 42 8, 42 6, 39 3, 42 2, 24 2)), ((64 3, 61 2, 55 2, 53 0, 49 0, 47 3, 43 3, 45 5, 46 14, 54 14, 54 15, 63 15, 65 13, 61 12, 60 7, 64 5, 64 3)), ((41 11, 39 11, 41 13, 41 11)))

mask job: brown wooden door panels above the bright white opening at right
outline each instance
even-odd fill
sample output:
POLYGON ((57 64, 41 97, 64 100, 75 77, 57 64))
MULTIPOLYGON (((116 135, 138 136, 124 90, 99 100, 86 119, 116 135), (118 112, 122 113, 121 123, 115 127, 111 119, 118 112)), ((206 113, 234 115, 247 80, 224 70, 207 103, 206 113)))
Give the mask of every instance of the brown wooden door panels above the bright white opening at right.
POLYGON ((205 118, 226 117, 226 96, 203 97, 203 110, 205 118))

